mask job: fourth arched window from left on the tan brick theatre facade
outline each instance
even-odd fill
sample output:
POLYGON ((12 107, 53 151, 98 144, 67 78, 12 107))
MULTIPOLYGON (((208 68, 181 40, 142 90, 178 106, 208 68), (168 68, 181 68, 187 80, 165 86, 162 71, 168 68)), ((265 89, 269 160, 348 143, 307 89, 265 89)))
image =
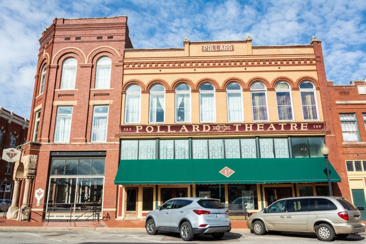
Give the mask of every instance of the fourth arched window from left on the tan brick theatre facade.
POLYGON ((200 122, 216 121, 215 88, 210 83, 199 87, 199 110, 200 122))

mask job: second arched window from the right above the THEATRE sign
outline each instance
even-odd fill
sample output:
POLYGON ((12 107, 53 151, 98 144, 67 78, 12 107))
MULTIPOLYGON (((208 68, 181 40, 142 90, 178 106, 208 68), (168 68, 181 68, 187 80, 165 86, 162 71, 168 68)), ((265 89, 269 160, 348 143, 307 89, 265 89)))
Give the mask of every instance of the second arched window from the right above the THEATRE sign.
POLYGON ((290 85, 281 81, 276 84, 275 89, 278 120, 294 120, 290 85))

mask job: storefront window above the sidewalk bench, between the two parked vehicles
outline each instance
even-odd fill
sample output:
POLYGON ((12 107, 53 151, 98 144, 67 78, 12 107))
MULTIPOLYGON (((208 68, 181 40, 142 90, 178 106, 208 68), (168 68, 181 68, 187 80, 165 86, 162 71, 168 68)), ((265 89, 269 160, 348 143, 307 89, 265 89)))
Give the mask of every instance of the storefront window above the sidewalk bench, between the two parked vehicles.
POLYGON ((247 210, 258 209, 257 186, 228 185, 228 199, 232 204, 245 204, 247 210))

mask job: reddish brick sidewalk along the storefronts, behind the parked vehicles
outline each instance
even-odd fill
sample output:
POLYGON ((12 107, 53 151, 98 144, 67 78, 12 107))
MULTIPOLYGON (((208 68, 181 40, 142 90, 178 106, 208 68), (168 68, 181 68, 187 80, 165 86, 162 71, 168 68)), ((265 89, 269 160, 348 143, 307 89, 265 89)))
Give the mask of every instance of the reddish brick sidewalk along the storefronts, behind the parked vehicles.
MULTIPOLYGON (((240 231, 245 231, 243 229, 247 229, 245 220, 232 220, 231 221, 232 229, 240 229, 240 231)), ((59 227, 60 229, 73 229, 73 228, 95 228, 95 229, 105 229, 105 228, 123 228, 123 229, 144 229, 145 228, 145 219, 108 219, 102 221, 89 221, 89 222, 26 222, 26 221, 17 221, 14 219, 5 219, 0 217, 0 227, 4 229, 7 228, 19 228, 19 227, 38 227, 41 229, 47 229, 48 227, 59 227)), ((238 231, 238 230, 237 230, 238 231)))

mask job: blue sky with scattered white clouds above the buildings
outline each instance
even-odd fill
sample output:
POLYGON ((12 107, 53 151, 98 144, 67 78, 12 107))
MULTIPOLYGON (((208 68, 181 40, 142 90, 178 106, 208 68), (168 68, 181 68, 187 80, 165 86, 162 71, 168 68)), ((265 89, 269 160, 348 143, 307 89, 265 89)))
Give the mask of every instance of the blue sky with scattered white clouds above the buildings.
POLYGON ((322 40, 326 76, 335 84, 366 78, 365 0, 0 0, 0 106, 29 118, 39 38, 57 18, 128 16, 134 48, 191 41, 252 45, 322 40))

